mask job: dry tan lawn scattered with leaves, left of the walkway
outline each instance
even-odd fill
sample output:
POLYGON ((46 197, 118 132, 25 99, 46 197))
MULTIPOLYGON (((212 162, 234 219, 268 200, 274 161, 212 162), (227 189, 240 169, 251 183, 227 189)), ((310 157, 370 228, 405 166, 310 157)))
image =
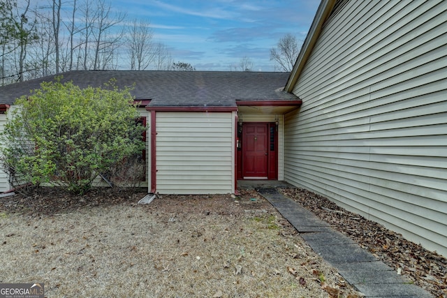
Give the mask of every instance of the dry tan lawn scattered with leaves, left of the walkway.
POLYGON ((10 209, 26 200, 0 202, 0 283, 43 282, 47 297, 328 297, 321 277, 355 293, 254 192, 10 209))

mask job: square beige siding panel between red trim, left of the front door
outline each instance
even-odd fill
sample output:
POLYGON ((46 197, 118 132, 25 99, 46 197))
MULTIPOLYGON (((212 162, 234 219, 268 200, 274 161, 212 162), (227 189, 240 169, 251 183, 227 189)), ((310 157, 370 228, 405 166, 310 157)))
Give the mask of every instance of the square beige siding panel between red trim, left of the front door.
POLYGON ((156 112, 156 191, 234 193, 234 112, 156 112))

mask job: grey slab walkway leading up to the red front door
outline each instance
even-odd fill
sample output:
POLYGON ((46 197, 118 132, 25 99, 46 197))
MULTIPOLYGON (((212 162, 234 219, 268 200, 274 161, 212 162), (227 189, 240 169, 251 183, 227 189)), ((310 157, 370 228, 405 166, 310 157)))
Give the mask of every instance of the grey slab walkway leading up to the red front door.
MULTIPOLYGON (((309 246, 330 265, 337 268, 339 274, 365 297, 433 297, 429 292, 411 284, 408 278, 398 275, 391 267, 377 260, 355 241, 330 228, 328 223, 321 221, 311 211, 281 195, 277 191, 276 184, 258 182, 257 186, 260 187, 255 186, 256 191, 300 232, 300 236, 309 246)), ((239 187, 251 188, 250 184, 239 187)))

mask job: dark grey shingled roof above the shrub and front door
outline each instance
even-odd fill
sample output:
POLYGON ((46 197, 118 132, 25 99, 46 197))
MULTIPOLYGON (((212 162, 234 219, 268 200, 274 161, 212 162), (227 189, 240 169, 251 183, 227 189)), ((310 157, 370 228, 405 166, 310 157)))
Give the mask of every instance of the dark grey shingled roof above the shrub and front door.
MULTIPOLYGON (((237 100, 297 100, 284 92, 288 73, 159 71, 159 70, 73 70, 59 74, 61 82, 73 81, 81 88, 100 87, 114 78, 118 87, 135 84, 136 100, 151 100, 152 107, 233 107, 237 100)), ((54 75, 0 87, 0 104, 40 88, 54 75)))

